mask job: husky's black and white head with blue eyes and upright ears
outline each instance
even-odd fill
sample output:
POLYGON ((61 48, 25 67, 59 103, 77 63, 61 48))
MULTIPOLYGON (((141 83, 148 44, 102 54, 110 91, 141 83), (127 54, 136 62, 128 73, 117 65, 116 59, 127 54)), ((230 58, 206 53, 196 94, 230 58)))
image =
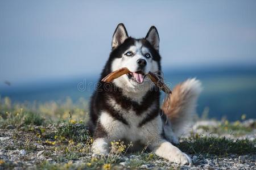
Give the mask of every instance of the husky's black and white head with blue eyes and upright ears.
POLYGON ((143 39, 129 37, 125 25, 118 24, 112 40, 110 54, 110 70, 115 71, 127 67, 131 73, 114 80, 118 87, 135 90, 143 87, 150 80, 145 79, 149 71, 160 71, 159 35, 152 26, 143 39))

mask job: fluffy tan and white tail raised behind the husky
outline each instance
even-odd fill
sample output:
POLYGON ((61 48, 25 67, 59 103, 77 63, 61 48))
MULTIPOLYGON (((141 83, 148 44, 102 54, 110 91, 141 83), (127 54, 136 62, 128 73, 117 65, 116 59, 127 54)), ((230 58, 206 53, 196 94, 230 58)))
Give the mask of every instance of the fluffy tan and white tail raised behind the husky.
POLYGON ((202 91, 199 80, 188 79, 178 84, 171 94, 170 105, 162 106, 164 114, 171 122, 172 130, 176 135, 180 135, 185 125, 191 121, 192 114, 196 112, 197 98, 202 91))

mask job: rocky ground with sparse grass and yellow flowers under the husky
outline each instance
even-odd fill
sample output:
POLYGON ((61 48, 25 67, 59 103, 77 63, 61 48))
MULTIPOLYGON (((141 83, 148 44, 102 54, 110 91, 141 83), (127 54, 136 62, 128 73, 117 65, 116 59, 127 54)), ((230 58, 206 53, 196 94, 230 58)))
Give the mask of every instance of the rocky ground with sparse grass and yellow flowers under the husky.
POLYGON ((121 141, 112 143, 109 156, 92 156, 93 139, 81 122, 8 125, 0 129, 0 169, 256 169, 255 124, 196 122, 178 146, 191 156, 191 166, 170 163, 151 152, 127 154, 130 146, 121 141))

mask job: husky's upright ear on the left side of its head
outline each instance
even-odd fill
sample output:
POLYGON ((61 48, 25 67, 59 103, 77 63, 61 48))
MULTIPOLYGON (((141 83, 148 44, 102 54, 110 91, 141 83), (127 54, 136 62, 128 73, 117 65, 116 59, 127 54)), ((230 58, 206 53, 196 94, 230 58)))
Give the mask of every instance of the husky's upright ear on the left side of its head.
POLYGON ((118 24, 113 35, 112 49, 117 48, 117 46, 121 45, 127 38, 128 34, 125 25, 122 23, 118 24))

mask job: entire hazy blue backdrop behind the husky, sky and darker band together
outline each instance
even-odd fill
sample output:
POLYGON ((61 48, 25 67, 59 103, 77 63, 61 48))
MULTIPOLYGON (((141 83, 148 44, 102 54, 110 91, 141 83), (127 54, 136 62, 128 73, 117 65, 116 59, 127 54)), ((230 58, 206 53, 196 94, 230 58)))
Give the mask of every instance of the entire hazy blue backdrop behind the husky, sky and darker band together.
POLYGON ((89 99, 118 23, 160 35, 166 80, 201 79, 198 112, 255 118, 256 1, 0 1, 0 95, 89 99), (10 82, 10 86, 8 82, 10 82))

